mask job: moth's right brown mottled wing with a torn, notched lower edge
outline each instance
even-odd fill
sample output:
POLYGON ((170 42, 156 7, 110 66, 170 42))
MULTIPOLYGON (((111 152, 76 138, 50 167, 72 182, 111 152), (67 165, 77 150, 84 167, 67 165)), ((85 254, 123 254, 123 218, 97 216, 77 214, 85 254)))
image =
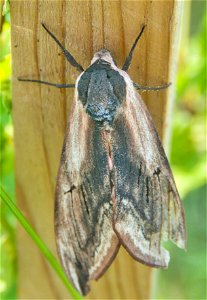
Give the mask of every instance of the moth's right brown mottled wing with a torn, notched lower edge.
POLYGON ((151 116, 130 81, 114 122, 114 229, 137 260, 167 267, 161 242, 185 248, 182 204, 151 116))

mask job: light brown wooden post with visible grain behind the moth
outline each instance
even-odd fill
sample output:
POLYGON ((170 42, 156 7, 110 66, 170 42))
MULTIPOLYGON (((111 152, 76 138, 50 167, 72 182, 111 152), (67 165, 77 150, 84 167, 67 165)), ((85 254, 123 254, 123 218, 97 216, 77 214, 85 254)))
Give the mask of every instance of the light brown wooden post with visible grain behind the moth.
MULTIPOLYGON (((13 120, 18 206, 56 253, 54 190, 73 91, 18 82, 18 76, 74 83, 78 75, 43 30, 45 22, 84 67, 93 53, 109 49, 119 66, 143 24, 146 30, 129 70, 142 85, 175 81, 180 1, 11 0, 13 120)), ((172 103, 167 91, 143 93, 161 138, 172 103)), ((169 127, 169 126, 168 126, 169 127)), ((165 139, 166 140, 166 139, 165 139)), ((68 299, 69 295, 33 241, 18 227, 20 299, 68 299)), ((91 285, 90 299, 148 299, 152 269, 121 249, 115 262, 91 285)))

